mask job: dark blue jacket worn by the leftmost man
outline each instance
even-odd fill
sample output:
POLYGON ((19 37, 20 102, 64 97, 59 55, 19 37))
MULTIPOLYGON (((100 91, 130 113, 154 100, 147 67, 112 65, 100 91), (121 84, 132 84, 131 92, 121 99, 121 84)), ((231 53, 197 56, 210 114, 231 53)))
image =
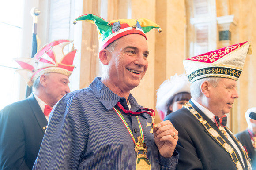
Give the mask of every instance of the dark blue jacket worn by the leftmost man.
POLYGON ((0 111, 0 170, 32 170, 48 122, 31 94, 0 111))

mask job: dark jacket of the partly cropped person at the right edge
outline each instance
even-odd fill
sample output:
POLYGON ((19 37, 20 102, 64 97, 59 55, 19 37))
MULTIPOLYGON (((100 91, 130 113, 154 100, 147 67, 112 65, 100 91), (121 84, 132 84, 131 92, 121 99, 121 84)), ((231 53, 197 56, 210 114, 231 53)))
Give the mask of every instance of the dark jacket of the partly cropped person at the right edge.
POLYGON ((248 130, 244 130, 240 133, 237 133, 235 136, 241 142, 241 144, 246 147, 248 156, 252 159, 253 167, 256 167, 255 150, 254 147, 252 146, 252 141, 248 130))

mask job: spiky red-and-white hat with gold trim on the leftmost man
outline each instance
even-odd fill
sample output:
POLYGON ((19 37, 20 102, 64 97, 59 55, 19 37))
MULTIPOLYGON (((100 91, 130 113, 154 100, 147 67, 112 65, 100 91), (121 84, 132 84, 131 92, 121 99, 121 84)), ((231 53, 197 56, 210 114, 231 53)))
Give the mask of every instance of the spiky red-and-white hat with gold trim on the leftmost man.
POLYGON ((72 40, 55 40, 42 47, 33 58, 14 58, 22 67, 16 72, 23 76, 29 87, 45 73, 55 72, 69 77, 75 67, 72 64, 76 50, 72 47, 72 50, 65 55, 63 49, 71 42, 72 40))

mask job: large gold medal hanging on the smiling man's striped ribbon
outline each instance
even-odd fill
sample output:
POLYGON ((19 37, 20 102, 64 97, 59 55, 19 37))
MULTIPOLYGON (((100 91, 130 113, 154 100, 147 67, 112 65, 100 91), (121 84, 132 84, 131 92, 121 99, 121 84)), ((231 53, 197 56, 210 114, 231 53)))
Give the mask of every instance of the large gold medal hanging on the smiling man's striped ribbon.
POLYGON ((142 137, 138 137, 138 142, 135 144, 135 152, 137 153, 136 159, 136 170, 151 170, 150 162, 147 158, 147 145, 143 143, 142 137), (143 151, 143 154, 140 154, 139 151, 143 151))

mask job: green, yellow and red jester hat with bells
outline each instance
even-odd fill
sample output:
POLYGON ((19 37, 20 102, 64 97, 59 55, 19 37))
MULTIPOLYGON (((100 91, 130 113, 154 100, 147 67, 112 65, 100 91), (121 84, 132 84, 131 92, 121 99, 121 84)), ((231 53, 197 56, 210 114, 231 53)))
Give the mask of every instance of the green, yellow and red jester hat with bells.
POLYGON ((107 22, 97 15, 84 14, 76 18, 73 23, 76 24, 76 21, 83 20, 97 26, 100 50, 105 49, 113 41, 128 34, 141 34, 147 40, 145 33, 149 32, 151 29, 158 28, 159 32, 162 31, 159 25, 145 18, 140 18, 138 20, 118 19, 107 22))

